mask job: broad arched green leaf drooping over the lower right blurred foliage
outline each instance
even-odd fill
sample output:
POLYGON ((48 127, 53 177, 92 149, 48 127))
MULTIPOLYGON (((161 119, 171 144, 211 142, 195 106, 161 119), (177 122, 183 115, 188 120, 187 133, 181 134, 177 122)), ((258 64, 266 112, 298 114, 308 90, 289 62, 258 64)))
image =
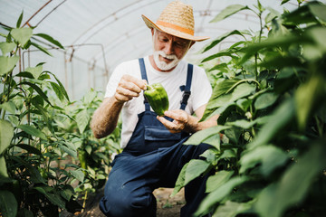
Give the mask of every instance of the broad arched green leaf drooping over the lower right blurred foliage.
POLYGON ((288 156, 276 146, 258 146, 249 152, 245 152, 240 159, 240 174, 246 170, 253 168, 255 165, 260 165, 262 175, 268 176, 273 170, 282 166, 288 160, 288 156))

